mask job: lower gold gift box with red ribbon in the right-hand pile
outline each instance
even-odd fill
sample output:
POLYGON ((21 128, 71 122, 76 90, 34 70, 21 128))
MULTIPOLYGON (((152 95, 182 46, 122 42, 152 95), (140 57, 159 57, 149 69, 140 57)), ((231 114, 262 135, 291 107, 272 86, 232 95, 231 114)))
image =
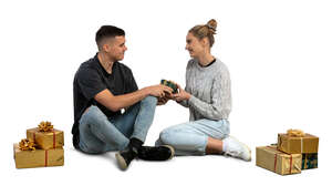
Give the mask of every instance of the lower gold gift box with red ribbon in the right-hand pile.
POLYGON ((286 154, 277 146, 256 147, 256 165, 280 175, 301 173, 302 155, 286 154))

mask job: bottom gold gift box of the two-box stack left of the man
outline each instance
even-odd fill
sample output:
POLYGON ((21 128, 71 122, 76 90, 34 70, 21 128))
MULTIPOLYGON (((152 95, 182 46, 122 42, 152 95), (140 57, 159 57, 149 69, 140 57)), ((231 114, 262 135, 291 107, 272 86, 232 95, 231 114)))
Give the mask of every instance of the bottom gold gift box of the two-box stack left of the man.
POLYGON ((62 147, 21 151, 19 144, 14 144, 13 149, 17 168, 61 166, 64 163, 64 152, 62 147))

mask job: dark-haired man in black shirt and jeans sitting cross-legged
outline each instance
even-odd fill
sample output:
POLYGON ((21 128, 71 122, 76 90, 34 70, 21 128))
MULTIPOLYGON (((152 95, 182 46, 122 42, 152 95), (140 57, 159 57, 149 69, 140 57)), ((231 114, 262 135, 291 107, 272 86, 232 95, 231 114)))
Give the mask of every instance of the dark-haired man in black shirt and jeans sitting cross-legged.
POLYGON ((95 41, 98 52, 81 64, 74 78, 74 147, 90 154, 120 151, 116 159, 122 169, 135 157, 172 158, 170 146, 143 146, 157 97, 170 95, 172 89, 165 85, 137 89, 131 69, 118 62, 127 50, 124 30, 103 25, 95 41))

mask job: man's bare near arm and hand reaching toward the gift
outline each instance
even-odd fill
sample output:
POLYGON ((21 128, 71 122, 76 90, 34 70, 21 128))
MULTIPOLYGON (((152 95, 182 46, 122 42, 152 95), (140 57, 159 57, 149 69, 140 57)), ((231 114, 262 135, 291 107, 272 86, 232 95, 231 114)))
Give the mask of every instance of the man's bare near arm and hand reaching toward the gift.
POLYGON ((133 104, 142 101, 148 95, 152 96, 165 96, 165 93, 172 94, 172 89, 165 85, 154 85, 144 87, 142 90, 135 91, 133 93, 127 93, 123 95, 113 95, 107 89, 101 91, 94 96, 94 100, 107 107, 108 110, 116 112, 121 108, 132 106, 133 104))

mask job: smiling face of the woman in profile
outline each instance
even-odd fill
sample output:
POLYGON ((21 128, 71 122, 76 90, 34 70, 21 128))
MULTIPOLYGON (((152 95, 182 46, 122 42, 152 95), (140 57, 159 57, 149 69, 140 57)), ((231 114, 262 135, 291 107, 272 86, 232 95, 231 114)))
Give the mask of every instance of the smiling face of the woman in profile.
POLYGON ((193 33, 188 32, 186 37, 186 50, 191 58, 197 58, 204 52, 204 43, 199 41, 193 33))

